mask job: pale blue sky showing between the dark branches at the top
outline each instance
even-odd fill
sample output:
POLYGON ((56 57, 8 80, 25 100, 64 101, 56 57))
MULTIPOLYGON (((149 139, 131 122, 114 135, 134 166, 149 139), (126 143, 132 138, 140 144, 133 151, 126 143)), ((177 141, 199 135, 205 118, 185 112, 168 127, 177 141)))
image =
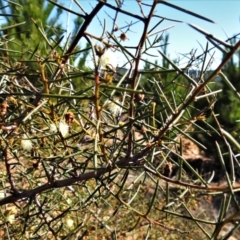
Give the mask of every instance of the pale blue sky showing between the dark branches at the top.
MULTIPOLYGON (((110 4, 116 5, 114 0, 107 1, 110 4)), ((143 0, 143 3, 151 4, 152 0, 143 0)), ((210 18, 215 22, 209 23, 204 20, 198 19, 196 17, 190 16, 186 13, 180 12, 176 9, 172 9, 169 6, 163 4, 158 4, 155 14, 162 17, 181 20, 184 23, 177 23, 172 21, 164 21, 157 27, 157 30, 169 28, 164 34, 169 34, 169 45, 168 54, 171 59, 181 58, 181 54, 190 53, 192 49, 197 50, 196 54, 202 53, 201 43, 203 48, 205 48, 207 40, 196 30, 188 26, 187 23, 192 23, 198 27, 204 29, 205 31, 211 33, 212 35, 226 40, 232 37, 234 34, 240 33, 240 1, 239 0, 169 0, 168 2, 177 5, 181 8, 193 11, 207 18, 210 18)), ((69 7, 72 3, 71 8, 75 11, 80 12, 79 7, 71 0, 64 0, 64 5, 69 7)), ((97 4, 94 0, 81 0, 79 3, 84 7, 84 9, 89 13, 97 4)), ((134 14, 140 14, 140 8, 135 0, 125 0, 123 9, 130 11, 134 14)), ((143 7, 145 14, 149 12, 149 8, 143 7)), ((104 19, 106 20, 106 30, 111 31, 112 20, 114 17, 114 11, 108 8, 103 8, 98 14, 93 23, 89 26, 87 32, 99 36, 102 33, 102 26, 104 19)), ((136 20, 131 19, 123 14, 119 15, 117 24, 120 28, 127 26, 130 22, 135 22, 136 20)), ((157 23, 159 19, 155 19, 153 22, 157 23)), ((70 21, 71 22, 71 21, 70 21)), ((152 25, 153 26, 153 25, 152 25)), ((151 27, 150 27, 151 28, 151 27)), ((123 28, 125 31, 127 28, 123 28)), ((139 41, 139 33, 142 33, 143 24, 136 23, 130 27, 130 31, 127 32, 128 40, 123 42, 123 45, 130 46, 136 45, 139 41)), ((116 33, 119 36, 120 33, 116 33)), ((240 35, 238 36, 240 38, 240 35)), ((210 46, 212 46, 210 44, 210 46)), ((160 50, 160 49, 159 49, 160 50)), ((133 51, 134 52, 134 51, 133 51)), ((151 52, 154 55, 159 55, 156 50, 151 52)), ((213 52, 212 52, 213 53, 213 52)), ((123 63, 125 60, 121 56, 117 56, 118 61, 123 63)), ((150 59, 149 56, 144 57, 145 59, 150 59)), ((216 67, 222 58, 221 52, 215 51, 214 62, 212 67, 216 67)), ((160 57, 156 57, 160 59, 160 57)))

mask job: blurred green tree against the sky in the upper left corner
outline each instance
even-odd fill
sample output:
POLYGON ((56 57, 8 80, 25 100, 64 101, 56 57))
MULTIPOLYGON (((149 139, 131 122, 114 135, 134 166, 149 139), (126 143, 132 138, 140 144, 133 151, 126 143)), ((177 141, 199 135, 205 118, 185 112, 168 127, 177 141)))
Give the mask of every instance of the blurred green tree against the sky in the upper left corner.
MULTIPOLYGON (((3 14, 11 15, 4 17, 4 23, 1 26, 1 36, 5 40, 6 51, 1 51, 0 56, 5 58, 8 64, 13 59, 35 60, 32 53, 42 58, 49 57, 51 50, 58 45, 58 41, 66 33, 60 22, 62 9, 45 0, 19 0, 15 3, 0 0, 0 9, 3 14), (7 51, 8 49, 11 51, 7 51)), ((69 44, 82 21, 79 16, 74 19, 69 44)), ((54 49, 58 50, 60 56, 64 54, 64 49, 60 47, 62 45, 60 42, 59 47, 54 49)), ((76 51, 79 50, 78 46, 76 51)), ((78 66, 84 66, 87 55, 88 51, 84 52, 80 59, 79 55, 74 56, 74 60, 79 59, 78 66)), ((32 66, 31 63, 28 65, 32 66)))

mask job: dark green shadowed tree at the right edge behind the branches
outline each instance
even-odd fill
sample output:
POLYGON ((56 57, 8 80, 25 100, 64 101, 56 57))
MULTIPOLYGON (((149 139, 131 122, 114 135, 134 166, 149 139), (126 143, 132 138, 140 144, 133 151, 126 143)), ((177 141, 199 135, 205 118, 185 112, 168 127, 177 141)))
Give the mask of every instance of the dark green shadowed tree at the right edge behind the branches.
MULTIPOLYGON (((234 37, 230 41, 231 45, 236 44, 237 39, 234 37)), ((223 54, 223 58, 226 54, 223 54)), ((207 75, 209 75, 211 71, 207 75)), ((225 151, 228 151, 227 147, 225 146, 225 142, 223 141, 222 137, 217 134, 216 131, 213 131, 213 128, 209 128, 209 126, 214 126, 214 128, 218 129, 219 124, 216 122, 216 119, 225 131, 228 131, 232 136, 237 137, 240 134, 240 102, 239 97, 237 96, 236 92, 234 92, 230 87, 227 81, 229 81, 232 86, 235 87, 236 91, 239 92, 240 90, 240 50, 236 51, 234 54, 234 58, 231 58, 229 62, 225 65, 222 69, 223 76, 218 75, 212 81, 212 84, 209 86, 209 89, 212 91, 221 89, 221 92, 217 94, 217 100, 215 104, 212 106, 214 110, 215 117, 212 114, 209 114, 211 111, 208 111, 205 114, 206 120, 199 121, 197 124, 205 128, 209 131, 209 135, 203 136, 203 134, 199 132, 195 132, 195 137, 200 140, 204 146, 206 146, 209 155, 216 156, 218 153, 212 148, 212 143, 214 141, 218 141, 222 148, 225 151), (227 79, 227 80, 224 80, 227 79), (206 124, 207 123, 207 124, 206 124)), ((215 97, 210 97, 208 101, 214 101, 215 97)), ((196 109, 203 109, 207 106, 208 103, 207 99, 203 99, 202 101, 195 102, 194 106, 196 109)), ((228 165, 228 155, 226 156, 226 165, 228 165)), ((238 177, 240 173, 238 173, 238 177)))

